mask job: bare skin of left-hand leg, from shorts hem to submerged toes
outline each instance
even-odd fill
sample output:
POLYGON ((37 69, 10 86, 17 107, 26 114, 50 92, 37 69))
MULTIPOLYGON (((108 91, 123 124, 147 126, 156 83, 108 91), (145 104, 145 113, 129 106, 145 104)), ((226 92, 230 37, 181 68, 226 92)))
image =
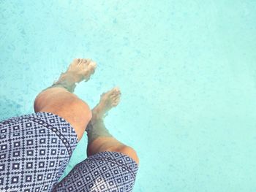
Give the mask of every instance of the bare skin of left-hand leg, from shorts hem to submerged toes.
POLYGON ((91 119, 91 110, 86 102, 72 92, 77 82, 89 80, 95 67, 96 64, 89 59, 74 59, 57 82, 39 93, 34 101, 34 111, 51 112, 64 118, 80 139, 91 119))

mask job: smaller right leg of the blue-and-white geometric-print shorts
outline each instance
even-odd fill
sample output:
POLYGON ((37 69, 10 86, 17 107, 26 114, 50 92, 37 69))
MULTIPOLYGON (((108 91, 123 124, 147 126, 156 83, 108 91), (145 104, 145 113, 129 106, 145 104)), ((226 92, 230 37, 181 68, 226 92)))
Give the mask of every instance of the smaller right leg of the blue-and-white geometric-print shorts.
POLYGON ((101 152, 77 164, 53 189, 63 191, 132 191, 138 164, 117 152, 101 152))

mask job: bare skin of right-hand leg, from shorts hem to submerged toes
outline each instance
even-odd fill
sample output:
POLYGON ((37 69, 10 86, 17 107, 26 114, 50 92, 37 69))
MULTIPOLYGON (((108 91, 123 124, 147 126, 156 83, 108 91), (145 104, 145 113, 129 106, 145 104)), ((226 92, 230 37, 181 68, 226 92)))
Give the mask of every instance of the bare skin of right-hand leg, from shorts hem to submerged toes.
POLYGON ((86 129, 89 141, 87 155, 94 155, 103 151, 115 151, 128 155, 138 164, 139 159, 135 150, 119 142, 105 128, 104 115, 112 107, 116 107, 120 101, 120 96, 119 89, 113 88, 107 93, 102 94, 99 104, 92 110, 91 122, 86 129))

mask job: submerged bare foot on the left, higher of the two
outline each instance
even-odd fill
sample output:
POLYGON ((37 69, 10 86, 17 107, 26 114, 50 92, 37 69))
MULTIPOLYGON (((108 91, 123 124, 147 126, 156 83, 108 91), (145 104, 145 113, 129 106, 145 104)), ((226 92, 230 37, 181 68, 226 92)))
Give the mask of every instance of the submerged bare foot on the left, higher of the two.
POLYGON ((72 80, 73 82, 88 81, 94 74, 97 64, 91 59, 75 58, 69 65, 67 72, 61 74, 60 80, 72 80))

